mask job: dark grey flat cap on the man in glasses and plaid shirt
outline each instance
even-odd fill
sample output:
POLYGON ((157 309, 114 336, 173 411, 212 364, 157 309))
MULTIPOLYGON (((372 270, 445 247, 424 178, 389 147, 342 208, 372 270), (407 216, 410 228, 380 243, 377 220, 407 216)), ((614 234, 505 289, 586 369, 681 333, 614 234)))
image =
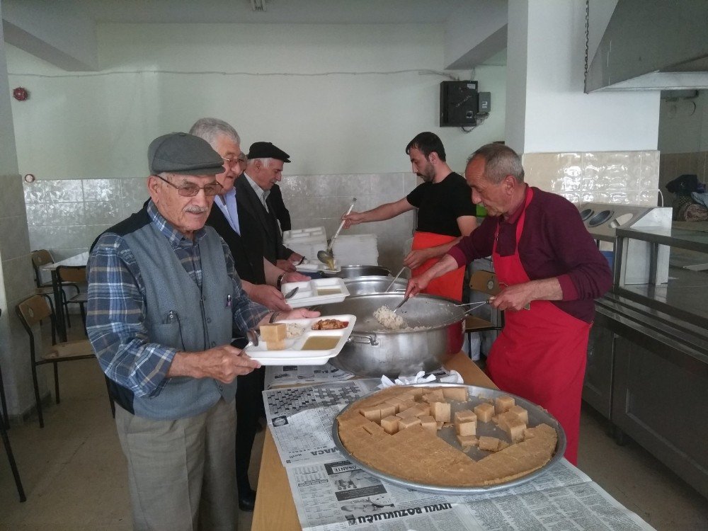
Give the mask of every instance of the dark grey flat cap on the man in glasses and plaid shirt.
POLYGON ((217 175, 224 173, 224 159, 205 139, 183 132, 157 137, 147 149, 150 173, 217 175))

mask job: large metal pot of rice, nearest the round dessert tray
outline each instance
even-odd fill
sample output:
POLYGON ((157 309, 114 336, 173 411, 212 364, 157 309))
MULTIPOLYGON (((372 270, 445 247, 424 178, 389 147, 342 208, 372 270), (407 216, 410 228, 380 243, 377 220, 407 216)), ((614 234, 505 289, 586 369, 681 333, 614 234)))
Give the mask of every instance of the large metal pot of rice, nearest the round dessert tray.
POLYGON ((349 341, 329 362, 358 376, 410 376, 435 370, 462 348, 464 308, 457 302, 435 295, 411 297, 399 310, 409 328, 384 329, 374 310, 396 307, 402 293, 379 293, 347 297, 343 302, 320 308, 323 314, 353 314, 357 317, 349 341))

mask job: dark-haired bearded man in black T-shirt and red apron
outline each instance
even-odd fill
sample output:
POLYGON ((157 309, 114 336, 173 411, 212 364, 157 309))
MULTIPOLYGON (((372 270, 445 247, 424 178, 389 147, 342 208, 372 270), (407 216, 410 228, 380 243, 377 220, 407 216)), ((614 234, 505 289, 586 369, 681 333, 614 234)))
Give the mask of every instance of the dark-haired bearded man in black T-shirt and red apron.
MULTIPOLYGON (((431 132, 416 135, 406 146, 406 154, 411 156, 413 171, 423 183, 401 200, 366 212, 351 212, 342 219, 348 229, 358 223, 391 219, 417 208, 418 227, 413 234, 411 252, 404 259, 404 265, 416 276, 437 263, 461 236, 472 232, 476 217, 467 183, 447 166, 445 147, 438 135, 431 132)), ((435 278, 424 292, 461 301, 463 279, 464 265, 461 265, 435 278)))

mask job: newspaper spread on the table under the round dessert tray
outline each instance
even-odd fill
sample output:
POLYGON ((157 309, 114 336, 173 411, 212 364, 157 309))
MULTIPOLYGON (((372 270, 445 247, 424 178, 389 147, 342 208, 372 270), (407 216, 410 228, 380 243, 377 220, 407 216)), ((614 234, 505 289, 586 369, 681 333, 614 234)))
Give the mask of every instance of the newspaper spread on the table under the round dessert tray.
POLYGON ((470 496, 405 489, 372 476, 338 452, 331 429, 341 409, 379 384, 353 379, 263 392, 304 530, 652 529, 565 459, 525 484, 470 496))

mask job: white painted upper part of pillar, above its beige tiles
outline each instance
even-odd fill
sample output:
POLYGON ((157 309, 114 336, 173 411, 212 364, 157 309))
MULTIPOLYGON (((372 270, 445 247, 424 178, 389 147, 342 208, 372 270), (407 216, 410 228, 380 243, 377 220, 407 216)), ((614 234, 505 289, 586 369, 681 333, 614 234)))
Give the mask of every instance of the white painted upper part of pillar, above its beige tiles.
POLYGON ((658 91, 583 92, 584 1, 510 2, 508 33, 506 130, 514 149, 656 149, 658 91), (525 68, 517 64, 524 58, 525 68))

